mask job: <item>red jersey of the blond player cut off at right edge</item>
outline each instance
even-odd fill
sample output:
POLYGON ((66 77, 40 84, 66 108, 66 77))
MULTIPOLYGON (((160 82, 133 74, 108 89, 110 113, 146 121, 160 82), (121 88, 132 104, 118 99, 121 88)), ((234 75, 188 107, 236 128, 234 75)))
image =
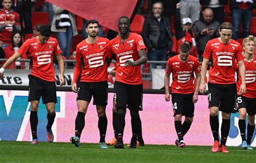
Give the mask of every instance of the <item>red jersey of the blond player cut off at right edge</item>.
MULTIPOLYGON (((245 64, 245 83, 246 83, 246 94, 242 95, 249 98, 256 98, 256 57, 251 62, 244 60, 245 64)), ((238 65, 237 65, 238 70, 238 65)), ((237 82, 237 93, 239 94, 239 89, 241 86, 241 76, 238 72, 238 82, 237 82)))

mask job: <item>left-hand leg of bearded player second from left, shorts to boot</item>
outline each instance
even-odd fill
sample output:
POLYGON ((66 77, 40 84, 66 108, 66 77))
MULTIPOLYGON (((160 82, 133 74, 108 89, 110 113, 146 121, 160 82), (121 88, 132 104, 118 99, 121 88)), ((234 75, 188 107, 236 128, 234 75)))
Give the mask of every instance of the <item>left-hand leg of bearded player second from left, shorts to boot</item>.
POLYGON ((85 114, 91 101, 91 85, 90 83, 80 82, 77 93, 77 116, 75 121, 75 136, 70 138, 72 144, 76 147, 80 146, 80 136, 85 126, 85 114))

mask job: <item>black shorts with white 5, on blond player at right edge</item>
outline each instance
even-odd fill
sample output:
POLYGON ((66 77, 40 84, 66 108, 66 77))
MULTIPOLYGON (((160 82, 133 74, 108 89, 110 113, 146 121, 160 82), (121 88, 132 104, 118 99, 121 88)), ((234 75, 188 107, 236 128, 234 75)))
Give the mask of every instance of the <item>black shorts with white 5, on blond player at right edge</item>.
POLYGON ((241 109, 241 108, 246 108, 246 112, 249 115, 255 115, 256 114, 256 98, 238 96, 237 97, 237 102, 238 102, 238 110, 241 109))

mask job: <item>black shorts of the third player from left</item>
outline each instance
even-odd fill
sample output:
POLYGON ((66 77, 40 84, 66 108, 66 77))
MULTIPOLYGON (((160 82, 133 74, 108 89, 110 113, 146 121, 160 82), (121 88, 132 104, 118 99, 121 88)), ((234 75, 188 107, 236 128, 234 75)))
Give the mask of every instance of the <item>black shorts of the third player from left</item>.
POLYGON ((142 111, 142 84, 132 85, 115 81, 114 101, 116 101, 116 107, 128 108, 134 111, 142 111))

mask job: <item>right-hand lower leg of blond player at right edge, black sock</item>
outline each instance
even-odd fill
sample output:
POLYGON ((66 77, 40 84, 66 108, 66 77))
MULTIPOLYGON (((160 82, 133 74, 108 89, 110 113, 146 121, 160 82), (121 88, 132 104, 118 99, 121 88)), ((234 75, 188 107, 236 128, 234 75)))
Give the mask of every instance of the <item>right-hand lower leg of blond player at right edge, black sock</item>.
MULTIPOLYGON (((253 105, 255 107, 255 105, 253 105)), ((255 114, 248 114, 248 124, 247 124, 247 150, 253 150, 251 146, 251 141, 253 137, 253 132, 255 130, 255 114)))

